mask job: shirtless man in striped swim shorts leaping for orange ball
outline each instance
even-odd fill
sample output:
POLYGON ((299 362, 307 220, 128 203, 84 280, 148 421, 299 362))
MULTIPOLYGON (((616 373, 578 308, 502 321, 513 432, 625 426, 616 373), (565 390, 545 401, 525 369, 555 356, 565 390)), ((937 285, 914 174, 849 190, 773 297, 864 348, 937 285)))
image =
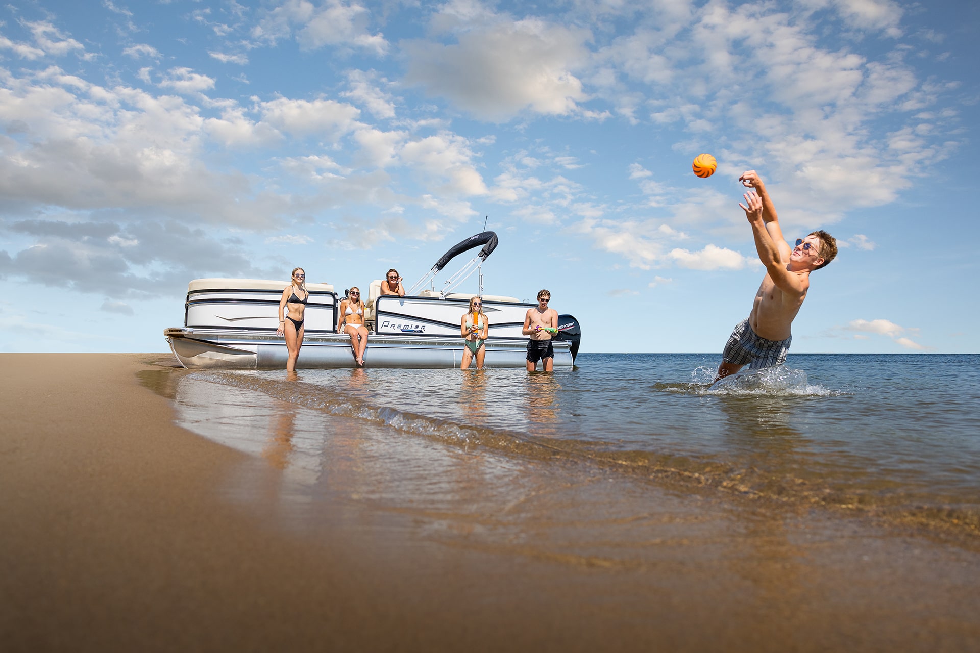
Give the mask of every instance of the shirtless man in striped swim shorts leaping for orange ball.
POLYGON ((739 203, 752 225, 756 251, 765 265, 765 276, 749 317, 735 326, 722 353, 717 379, 739 371, 781 365, 793 340, 790 327, 807 299, 809 273, 837 256, 837 241, 822 229, 798 239, 792 250, 783 238, 779 218, 765 184, 755 170, 739 177, 743 186, 756 189, 739 203))

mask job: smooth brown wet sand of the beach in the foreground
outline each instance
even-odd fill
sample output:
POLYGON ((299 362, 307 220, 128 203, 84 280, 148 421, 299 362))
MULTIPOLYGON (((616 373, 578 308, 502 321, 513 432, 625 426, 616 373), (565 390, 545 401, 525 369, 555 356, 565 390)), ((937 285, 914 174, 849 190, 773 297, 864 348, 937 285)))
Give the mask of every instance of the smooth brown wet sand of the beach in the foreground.
POLYGON ((381 488, 418 453, 354 420, 329 422, 362 443, 334 485, 283 500, 274 439, 250 456, 173 424, 170 365, 0 354, 3 650, 980 648, 970 547, 428 444, 455 479, 437 504, 381 488))

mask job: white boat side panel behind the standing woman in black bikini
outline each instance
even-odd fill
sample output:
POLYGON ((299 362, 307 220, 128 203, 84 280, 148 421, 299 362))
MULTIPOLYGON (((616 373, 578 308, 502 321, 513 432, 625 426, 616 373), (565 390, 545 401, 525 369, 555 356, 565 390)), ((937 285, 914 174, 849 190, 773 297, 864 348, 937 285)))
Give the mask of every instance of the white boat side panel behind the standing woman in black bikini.
MULTIPOLYGON (((279 328, 282 291, 208 289, 187 293, 184 326, 193 329, 271 331, 279 328)), ((306 333, 334 333, 336 293, 311 292, 304 312, 306 333)))

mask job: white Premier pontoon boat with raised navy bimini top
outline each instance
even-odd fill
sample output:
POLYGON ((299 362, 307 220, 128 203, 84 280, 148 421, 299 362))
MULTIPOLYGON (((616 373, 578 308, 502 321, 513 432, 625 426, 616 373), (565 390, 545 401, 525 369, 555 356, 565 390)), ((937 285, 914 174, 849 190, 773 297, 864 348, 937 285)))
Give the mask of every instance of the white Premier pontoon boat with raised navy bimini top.
MULTIPOLYGON (((521 334, 524 315, 536 303, 513 297, 483 295, 482 264, 497 247, 492 231, 470 236, 443 255, 405 297, 380 295, 381 281, 368 292, 366 367, 459 367, 464 340, 460 318, 473 295, 454 293, 473 272, 478 273, 483 312, 490 318, 486 341, 487 367, 523 367, 527 337, 521 334), (454 257, 483 246, 462 270, 435 290, 435 276, 454 257), (429 287, 424 290, 426 282, 429 287)), ((190 368, 281 368, 286 343, 277 336, 278 305, 288 281, 260 279, 195 279, 187 287, 184 326, 164 331, 173 355, 190 368)), ((310 300, 304 314, 306 331, 296 366, 357 367, 350 337, 337 333, 340 304, 330 284, 307 284, 310 300)), ((346 294, 346 291, 345 291, 346 294)), ((555 365, 570 366, 578 353, 581 331, 571 315, 559 316, 553 339, 555 365)))

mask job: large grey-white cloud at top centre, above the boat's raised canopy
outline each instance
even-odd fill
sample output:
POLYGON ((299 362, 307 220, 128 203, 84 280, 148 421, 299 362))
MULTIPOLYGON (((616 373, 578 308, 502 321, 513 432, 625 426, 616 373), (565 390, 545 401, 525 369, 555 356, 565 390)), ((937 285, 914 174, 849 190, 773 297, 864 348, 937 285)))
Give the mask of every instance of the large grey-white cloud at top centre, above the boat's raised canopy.
POLYGON ((467 26, 458 42, 409 41, 406 80, 482 119, 523 110, 566 116, 588 99, 573 71, 585 66, 588 30, 541 20, 467 26))

